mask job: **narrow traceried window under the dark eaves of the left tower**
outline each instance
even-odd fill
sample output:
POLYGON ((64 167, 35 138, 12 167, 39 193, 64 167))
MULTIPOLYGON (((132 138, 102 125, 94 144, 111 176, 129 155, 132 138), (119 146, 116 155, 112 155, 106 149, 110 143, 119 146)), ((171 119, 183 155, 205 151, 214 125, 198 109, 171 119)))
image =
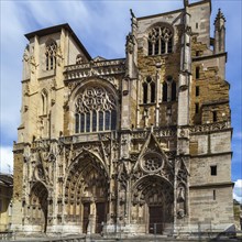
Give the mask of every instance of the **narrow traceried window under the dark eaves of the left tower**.
POLYGON ((56 67, 56 51, 57 44, 55 41, 48 41, 45 45, 45 67, 46 70, 55 69, 56 67))

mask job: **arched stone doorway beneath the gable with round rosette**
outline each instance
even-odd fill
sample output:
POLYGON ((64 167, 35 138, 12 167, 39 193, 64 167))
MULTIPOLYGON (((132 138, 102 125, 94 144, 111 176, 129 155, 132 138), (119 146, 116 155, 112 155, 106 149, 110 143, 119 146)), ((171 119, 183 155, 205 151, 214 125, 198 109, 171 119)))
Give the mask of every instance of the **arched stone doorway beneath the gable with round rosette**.
POLYGON ((133 205, 143 207, 146 233, 162 234, 174 221, 174 191, 169 182, 160 176, 141 178, 133 190, 133 205))

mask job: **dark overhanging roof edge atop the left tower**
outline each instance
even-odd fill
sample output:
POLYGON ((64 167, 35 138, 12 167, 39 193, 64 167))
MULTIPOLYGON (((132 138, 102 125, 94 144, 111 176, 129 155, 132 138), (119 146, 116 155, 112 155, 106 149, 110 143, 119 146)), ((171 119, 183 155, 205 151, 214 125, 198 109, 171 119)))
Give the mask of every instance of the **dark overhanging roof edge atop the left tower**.
POLYGON ((75 34, 75 32, 73 31, 73 29, 69 26, 68 23, 64 23, 64 24, 59 24, 59 25, 55 25, 55 26, 51 26, 51 28, 45 28, 45 29, 42 29, 38 31, 34 31, 34 32, 24 34, 24 36, 30 41, 34 36, 44 36, 47 34, 53 34, 53 33, 62 31, 62 29, 65 29, 70 33, 73 38, 76 41, 76 43, 79 45, 79 47, 84 51, 87 58, 90 61, 91 56, 89 55, 88 51, 81 44, 80 40, 77 37, 77 35, 75 34))

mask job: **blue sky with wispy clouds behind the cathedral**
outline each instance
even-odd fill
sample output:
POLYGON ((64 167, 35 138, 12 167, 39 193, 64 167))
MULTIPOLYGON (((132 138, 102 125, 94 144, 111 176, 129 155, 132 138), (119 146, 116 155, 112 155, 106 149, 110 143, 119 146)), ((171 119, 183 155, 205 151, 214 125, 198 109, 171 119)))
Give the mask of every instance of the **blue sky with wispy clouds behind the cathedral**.
MULTIPOLYGON (((196 1, 190 0, 189 2, 196 1)), ((12 143, 16 140, 16 128, 20 125, 22 55, 28 44, 25 33, 69 23, 92 57, 98 55, 106 58, 124 57, 125 35, 130 31, 130 9, 133 9, 136 16, 143 16, 180 9, 183 0, 0 0, 0 170, 8 172, 12 169, 12 143)), ((242 1, 212 0, 212 36, 215 15, 219 8, 227 19, 227 80, 231 84, 230 105, 233 127, 232 180, 241 179, 242 184, 242 1)), ((240 196, 242 197, 242 193, 240 196)))

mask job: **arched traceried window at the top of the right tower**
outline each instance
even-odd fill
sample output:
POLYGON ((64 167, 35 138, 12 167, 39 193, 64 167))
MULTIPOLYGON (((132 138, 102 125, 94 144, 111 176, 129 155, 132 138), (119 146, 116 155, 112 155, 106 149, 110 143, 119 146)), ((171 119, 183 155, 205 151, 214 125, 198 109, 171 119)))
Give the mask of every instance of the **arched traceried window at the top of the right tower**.
POLYGON ((161 55, 173 52, 173 31, 167 26, 155 26, 148 33, 148 55, 161 55))

